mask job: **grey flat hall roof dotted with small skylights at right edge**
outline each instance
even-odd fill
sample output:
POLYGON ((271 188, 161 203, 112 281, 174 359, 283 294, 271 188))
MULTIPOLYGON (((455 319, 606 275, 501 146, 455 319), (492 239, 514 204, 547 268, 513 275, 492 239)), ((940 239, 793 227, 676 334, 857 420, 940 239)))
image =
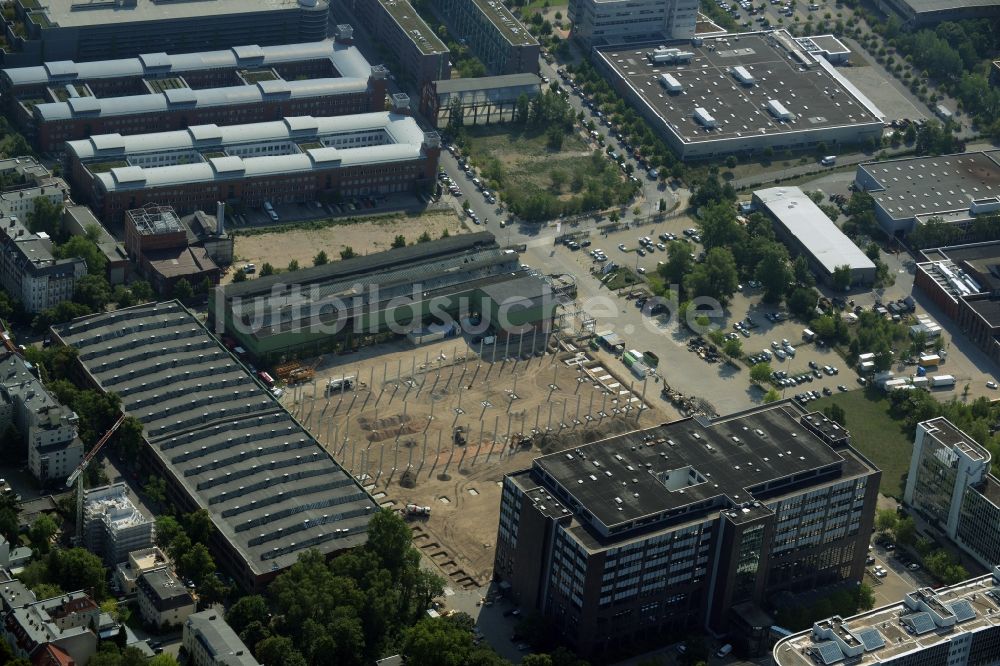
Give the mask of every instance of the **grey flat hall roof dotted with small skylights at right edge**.
POLYGON ((1000 196, 1000 153, 960 153, 871 162, 859 168, 881 190, 869 190, 893 219, 968 211, 976 199, 1000 196))

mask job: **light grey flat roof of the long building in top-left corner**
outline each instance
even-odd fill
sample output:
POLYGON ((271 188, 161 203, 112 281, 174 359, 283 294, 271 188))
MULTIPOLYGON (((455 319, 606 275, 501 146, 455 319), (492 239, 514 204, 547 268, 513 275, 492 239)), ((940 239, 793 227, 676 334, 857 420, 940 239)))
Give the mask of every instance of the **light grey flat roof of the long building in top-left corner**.
MULTIPOLYGON (((320 7, 328 0, 317 0, 320 7)), ((199 0, 170 2, 135 0, 135 6, 121 6, 107 0, 45 0, 45 13, 63 28, 80 28, 106 23, 170 21, 216 17, 220 14, 252 14, 300 8, 299 0, 199 0)), ((151 38, 153 36, 151 35, 151 38)))

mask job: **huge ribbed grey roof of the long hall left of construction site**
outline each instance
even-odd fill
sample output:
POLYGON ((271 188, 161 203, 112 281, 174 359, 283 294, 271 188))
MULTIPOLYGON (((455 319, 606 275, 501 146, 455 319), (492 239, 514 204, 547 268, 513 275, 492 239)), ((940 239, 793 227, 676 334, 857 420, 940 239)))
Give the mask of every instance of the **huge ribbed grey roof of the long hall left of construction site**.
POLYGON ((378 509, 371 496, 176 301, 53 330, 142 421, 175 482, 251 571, 364 542, 378 509))

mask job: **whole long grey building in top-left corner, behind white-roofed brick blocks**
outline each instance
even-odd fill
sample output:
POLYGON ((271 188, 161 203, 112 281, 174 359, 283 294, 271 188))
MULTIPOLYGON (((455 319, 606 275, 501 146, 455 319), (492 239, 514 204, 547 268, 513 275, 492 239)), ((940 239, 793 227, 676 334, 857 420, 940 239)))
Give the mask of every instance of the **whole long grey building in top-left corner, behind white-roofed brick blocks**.
POLYGON ((127 58, 149 45, 167 53, 206 44, 293 44, 326 39, 328 0, 16 0, 5 14, 2 64, 127 58))

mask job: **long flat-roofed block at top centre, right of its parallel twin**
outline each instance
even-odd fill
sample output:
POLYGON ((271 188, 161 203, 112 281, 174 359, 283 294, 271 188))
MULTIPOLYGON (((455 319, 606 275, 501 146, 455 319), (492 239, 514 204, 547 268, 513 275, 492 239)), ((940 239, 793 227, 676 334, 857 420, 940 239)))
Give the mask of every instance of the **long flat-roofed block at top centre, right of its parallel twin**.
POLYGON ((538 73, 538 40, 500 0, 434 0, 432 6, 490 73, 538 73))

